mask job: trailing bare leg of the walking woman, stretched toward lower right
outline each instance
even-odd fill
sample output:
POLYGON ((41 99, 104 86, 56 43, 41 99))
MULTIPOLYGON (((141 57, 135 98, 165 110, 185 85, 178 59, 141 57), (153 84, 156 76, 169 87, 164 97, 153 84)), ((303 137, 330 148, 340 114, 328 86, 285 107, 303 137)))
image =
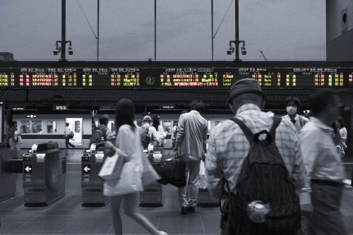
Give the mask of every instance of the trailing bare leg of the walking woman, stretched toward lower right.
POLYGON ((144 227, 146 230, 150 232, 150 234, 161 234, 155 226, 147 219, 144 215, 136 210, 137 206, 137 193, 131 193, 126 195, 124 200, 124 213, 134 219, 138 224, 144 227))

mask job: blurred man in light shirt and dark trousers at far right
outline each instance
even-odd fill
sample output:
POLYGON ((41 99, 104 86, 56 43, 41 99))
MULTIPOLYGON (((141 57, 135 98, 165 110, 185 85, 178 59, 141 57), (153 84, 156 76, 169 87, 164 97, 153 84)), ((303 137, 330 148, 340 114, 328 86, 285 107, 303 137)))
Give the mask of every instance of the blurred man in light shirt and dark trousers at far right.
POLYGON ((332 90, 324 88, 313 93, 310 100, 313 116, 299 134, 307 172, 300 193, 301 211, 308 215, 308 234, 347 234, 340 213, 345 168, 332 128, 342 103, 332 90))

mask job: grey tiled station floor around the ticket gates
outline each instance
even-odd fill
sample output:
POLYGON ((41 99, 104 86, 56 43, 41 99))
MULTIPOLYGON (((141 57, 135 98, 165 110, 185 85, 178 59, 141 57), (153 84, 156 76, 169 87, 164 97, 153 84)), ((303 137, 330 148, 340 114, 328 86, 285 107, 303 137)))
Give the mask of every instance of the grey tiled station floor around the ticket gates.
MULTIPOLYGON (((0 203, 0 234, 114 234, 109 203, 106 207, 82 207, 80 155, 70 150, 67 156, 66 193, 47 207, 25 207, 22 174, 18 174, 14 198, 0 203)), ((0 189, 1 190, 1 189, 0 189)), ((168 234, 220 234, 218 207, 197 207, 195 213, 180 214, 177 188, 164 187, 163 207, 138 207, 157 229, 168 234)), ((342 214, 353 234, 353 191, 346 188, 342 214)), ((148 234, 121 212, 124 234, 148 234)))

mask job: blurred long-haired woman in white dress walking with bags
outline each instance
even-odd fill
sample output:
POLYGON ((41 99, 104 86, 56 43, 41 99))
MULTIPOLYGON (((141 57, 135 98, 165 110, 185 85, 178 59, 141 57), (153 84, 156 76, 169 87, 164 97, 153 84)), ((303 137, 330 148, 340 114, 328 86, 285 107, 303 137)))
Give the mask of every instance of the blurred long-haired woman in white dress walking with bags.
MULTIPOLYGON (((115 125, 117 130, 115 146, 109 141, 106 142, 107 147, 112 147, 116 152, 121 151, 127 155, 127 157, 125 157, 126 162, 121 170, 120 179, 109 180, 104 183, 104 193, 111 197, 110 205, 114 231, 115 234, 123 234, 121 215, 119 212, 120 205, 123 204, 124 213, 138 222, 140 226, 148 230, 150 234, 167 235, 164 231, 158 231, 148 218, 137 210, 138 193, 139 191, 143 191, 144 182, 142 176, 144 173, 144 166, 142 158, 143 148, 140 142, 139 130, 133 123, 134 114, 135 105, 131 100, 119 100, 116 104, 115 114, 115 125), (133 165, 132 169, 124 171, 124 168, 130 168, 131 165, 133 165), (126 174, 131 175, 126 176, 126 174), (121 181, 128 181, 129 179, 134 179, 135 181, 133 182, 134 186, 132 187, 133 193, 124 193, 126 182, 121 181), (124 203, 122 203, 123 200, 124 203)), ((128 188, 128 186, 126 186, 126 188, 128 188)))

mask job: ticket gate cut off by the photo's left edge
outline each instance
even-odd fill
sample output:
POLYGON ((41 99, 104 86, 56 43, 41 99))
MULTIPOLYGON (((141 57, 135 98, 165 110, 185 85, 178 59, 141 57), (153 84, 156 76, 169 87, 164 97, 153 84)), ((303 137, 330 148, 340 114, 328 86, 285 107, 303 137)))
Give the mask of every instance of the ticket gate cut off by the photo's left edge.
POLYGON ((6 144, 0 145, 0 202, 16 195, 17 174, 13 174, 13 157, 6 144))

